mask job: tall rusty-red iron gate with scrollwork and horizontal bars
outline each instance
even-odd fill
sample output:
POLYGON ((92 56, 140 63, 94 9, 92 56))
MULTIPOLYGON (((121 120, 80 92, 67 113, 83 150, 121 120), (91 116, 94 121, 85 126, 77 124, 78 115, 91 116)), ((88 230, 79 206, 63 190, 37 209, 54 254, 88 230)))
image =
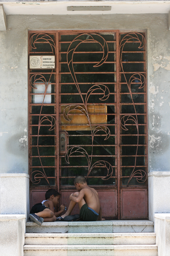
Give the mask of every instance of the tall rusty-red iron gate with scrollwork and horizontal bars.
POLYGON ((31 204, 49 187, 68 204, 74 177, 84 175, 103 216, 146 219, 145 32, 30 31, 30 56, 31 204))

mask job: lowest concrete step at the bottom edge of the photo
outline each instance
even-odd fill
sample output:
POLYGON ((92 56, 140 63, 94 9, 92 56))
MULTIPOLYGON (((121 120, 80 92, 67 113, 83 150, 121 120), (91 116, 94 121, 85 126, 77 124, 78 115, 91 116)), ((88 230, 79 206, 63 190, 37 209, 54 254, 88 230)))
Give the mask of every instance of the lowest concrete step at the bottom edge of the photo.
POLYGON ((24 256, 158 256, 156 245, 25 245, 24 256))

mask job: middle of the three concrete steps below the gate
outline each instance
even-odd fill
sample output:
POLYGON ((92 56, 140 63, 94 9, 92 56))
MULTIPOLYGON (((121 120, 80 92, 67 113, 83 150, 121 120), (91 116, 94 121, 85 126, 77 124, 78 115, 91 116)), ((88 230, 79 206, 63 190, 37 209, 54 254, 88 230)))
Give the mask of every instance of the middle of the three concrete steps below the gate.
POLYGON ((155 233, 26 233, 25 245, 147 245, 155 233))

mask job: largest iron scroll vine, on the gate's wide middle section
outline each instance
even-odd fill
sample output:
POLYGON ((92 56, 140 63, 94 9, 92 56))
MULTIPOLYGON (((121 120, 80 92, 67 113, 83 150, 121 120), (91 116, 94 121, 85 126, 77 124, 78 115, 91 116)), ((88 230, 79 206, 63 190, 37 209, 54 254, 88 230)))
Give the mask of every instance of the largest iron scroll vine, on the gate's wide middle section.
MULTIPOLYGON (((107 42, 106 40, 100 36, 99 34, 96 34, 96 33, 84 33, 84 34, 81 34, 79 36, 77 36, 71 43, 70 43, 70 46, 68 47, 68 51, 67 51, 67 64, 68 64, 68 68, 70 70, 70 74, 72 76, 72 79, 74 80, 74 84, 80 94, 80 97, 82 99, 82 105, 76 105, 76 104, 70 104, 69 106, 67 106, 65 109, 64 109, 64 112, 63 112, 63 117, 66 121, 70 122, 70 118, 68 117, 68 114, 71 112, 74 111, 78 111, 80 112, 81 114, 84 114, 84 116, 86 116, 87 120, 88 120, 88 123, 89 123, 89 126, 90 126, 90 130, 91 130, 91 138, 92 138, 92 151, 91 151, 91 156, 89 157, 88 153, 86 152, 86 150, 84 148, 81 148, 81 147, 78 147, 78 146, 74 146, 72 148, 69 148, 65 154, 65 160, 67 163, 69 163, 69 157, 70 155, 72 154, 76 154, 76 153, 79 153, 79 154, 82 154, 86 157, 87 159, 87 162, 88 162, 88 174, 87 174, 87 177, 90 175, 90 172, 92 171, 92 169, 94 168, 100 168, 100 167, 104 167, 106 168, 107 170, 107 175, 105 178, 102 178, 103 180, 107 180, 109 179, 112 174, 113 174, 113 168, 111 166, 111 164, 109 164, 109 162, 107 161, 97 161, 95 162, 94 164, 92 164, 92 157, 93 157, 93 142, 94 142, 94 136, 96 136, 96 133, 98 133, 99 131, 101 132, 104 132, 106 134, 106 138, 104 140, 107 140, 110 136, 110 130, 107 126, 104 126, 104 125, 99 125, 97 126, 96 128, 94 128, 94 130, 92 129, 92 124, 91 124, 91 121, 90 121, 90 116, 89 116, 89 113, 88 113, 88 100, 90 98, 90 96, 93 94, 94 96, 94 92, 96 90, 101 90, 102 91, 102 97, 100 97, 100 100, 102 101, 105 101, 109 98, 109 89, 107 88, 106 85, 104 84, 94 84, 87 92, 86 94, 86 98, 84 100, 83 96, 82 96, 82 93, 80 91, 80 87, 79 87, 79 84, 78 84, 78 81, 77 81, 77 78, 76 78, 76 74, 74 72, 74 66, 73 66, 73 55, 74 55, 74 52, 76 51, 76 48, 81 44, 81 43, 84 43, 84 42, 96 42, 98 44, 100 44, 100 46, 102 46, 102 50, 103 50, 103 56, 102 56, 102 59, 97 63, 95 64, 93 67, 99 67, 101 66, 102 64, 104 64, 104 62, 107 60, 107 56, 108 56, 108 45, 107 45, 107 42), (88 39, 83 39, 84 35, 86 35, 88 39), (95 38, 98 38, 98 40, 94 39, 94 35, 95 35, 95 38)), ((97 95, 97 93, 95 94, 97 95)))

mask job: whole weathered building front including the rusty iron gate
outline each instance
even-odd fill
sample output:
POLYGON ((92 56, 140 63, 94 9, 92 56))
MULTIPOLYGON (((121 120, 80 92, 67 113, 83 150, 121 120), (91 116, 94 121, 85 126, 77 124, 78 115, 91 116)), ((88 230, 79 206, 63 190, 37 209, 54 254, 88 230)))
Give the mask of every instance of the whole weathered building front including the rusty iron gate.
POLYGON ((1 2, 3 248, 13 232, 22 255, 30 206, 50 187, 68 204, 81 174, 107 219, 154 221, 168 256, 170 1, 1 2))

